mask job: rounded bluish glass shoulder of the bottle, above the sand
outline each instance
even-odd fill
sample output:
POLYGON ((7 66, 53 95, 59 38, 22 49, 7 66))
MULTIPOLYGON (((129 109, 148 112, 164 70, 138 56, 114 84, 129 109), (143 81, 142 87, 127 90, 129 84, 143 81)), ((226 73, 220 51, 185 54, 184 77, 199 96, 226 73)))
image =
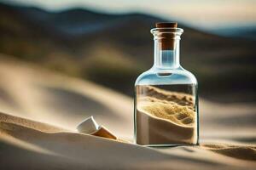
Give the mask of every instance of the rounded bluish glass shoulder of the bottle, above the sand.
POLYGON ((179 67, 177 69, 155 69, 144 71, 135 82, 135 85, 160 85, 160 84, 197 84, 195 76, 179 67))

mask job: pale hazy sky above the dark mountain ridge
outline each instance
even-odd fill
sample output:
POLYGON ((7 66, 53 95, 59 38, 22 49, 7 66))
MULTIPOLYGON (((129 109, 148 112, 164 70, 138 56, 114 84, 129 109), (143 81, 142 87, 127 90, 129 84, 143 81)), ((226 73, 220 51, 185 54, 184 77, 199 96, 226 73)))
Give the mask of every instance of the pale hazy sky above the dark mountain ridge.
MULTIPOLYGON (((4 0, 3 0, 4 1, 4 0)), ((90 8, 107 13, 142 12, 201 28, 256 25, 256 0, 5 0, 49 10, 90 8)))

